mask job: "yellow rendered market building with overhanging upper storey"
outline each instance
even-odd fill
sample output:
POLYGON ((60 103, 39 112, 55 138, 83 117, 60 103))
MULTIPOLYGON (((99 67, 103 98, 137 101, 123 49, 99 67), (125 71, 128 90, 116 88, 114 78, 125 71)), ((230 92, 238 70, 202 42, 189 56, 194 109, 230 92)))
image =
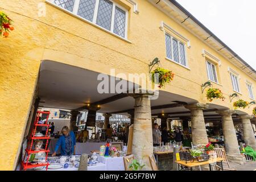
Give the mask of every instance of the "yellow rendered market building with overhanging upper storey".
MULTIPOLYGON (((209 117, 203 121, 215 121, 210 115, 219 110, 222 122, 226 117, 232 120, 236 113, 237 118, 242 115, 237 122, 249 126, 248 115, 253 114, 254 106, 235 110, 229 96, 236 93, 245 101, 255 101, 255 70, 176 1, 2 0, 0 11, 14 20, 15 27, 9 38, 0 39, 1 170, 18 165, 36 102, 37 106, 68 110, 97 103, 101 113, 127 113, 134 108, 134 98, 104 101, 118 94, 96 93, 97 75, 110 75, 113 68, 115 75, 148 73, 155 57, 161 67, 175 73, 175 79, 160 90, 158 100, 145 104, 144 109, 151 108, 145 118, 160 113, 189 117, 191 110, 196 132, 202 126, 196 119, 202 119, 201 113, 207 109, 209 117), (225 101, 207 100, 201 87, 207 81, 224 93, 225 101), (234 112, 227 116, 223 110, 234 112)), ((144 103, 137 97, 135 102, 144 103)), ((152 144, 151 122, 140 123, 138 117, 135 109, 135 130, 147 135, 152 144)), ((133 141, 139 145, 140 135, 136 136, 137 143, 133 141)), ((145 150, 149 154, 152 147, 145 150)), ((136 155, 141 152, 134 149, 136 155)))

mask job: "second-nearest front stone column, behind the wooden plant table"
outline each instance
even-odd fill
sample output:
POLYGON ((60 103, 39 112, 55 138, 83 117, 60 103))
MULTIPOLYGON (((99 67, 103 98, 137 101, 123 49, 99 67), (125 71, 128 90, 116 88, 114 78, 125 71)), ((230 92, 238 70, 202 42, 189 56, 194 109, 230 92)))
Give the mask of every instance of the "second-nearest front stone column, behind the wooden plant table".
POLYGON ((198 144, 207 144, 208 137, 204 122, 203 110, 207 109, 209 105, 206 104, 193 104, 185 106, 191 110, 191 131, 192 131, 192 142, 196 146, 198 144))

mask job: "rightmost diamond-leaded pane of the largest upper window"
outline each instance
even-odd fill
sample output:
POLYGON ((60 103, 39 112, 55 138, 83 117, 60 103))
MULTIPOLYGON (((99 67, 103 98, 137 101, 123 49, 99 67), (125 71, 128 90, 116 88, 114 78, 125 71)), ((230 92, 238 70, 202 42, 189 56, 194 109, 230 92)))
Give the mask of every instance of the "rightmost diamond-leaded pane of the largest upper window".
POLYGON ((114 33, 125 37, 125 11, 115 6, 114 33))

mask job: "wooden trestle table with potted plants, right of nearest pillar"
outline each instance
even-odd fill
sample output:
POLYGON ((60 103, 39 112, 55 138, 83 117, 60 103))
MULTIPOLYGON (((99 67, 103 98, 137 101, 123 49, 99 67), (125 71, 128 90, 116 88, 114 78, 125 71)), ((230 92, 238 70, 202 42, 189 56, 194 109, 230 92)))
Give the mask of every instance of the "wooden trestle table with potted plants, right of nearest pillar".
POLYGON ((223 171, 222 160, 224 160, 224 159, 223 158, 216 158, 216 159, 208 160, 206 162, 197 162, 197 161, 194 161, 194 162, 187 161, 186 162, 185 160, 179 160, 179 161, 176 160, 175 162, 178 164, 178 170, 179 171, 184 171, 185 167, 191 168, 191 171, 192 171, 192 167, 203 166, 203 165, 208 165, 208 164, 209 164, 209 167, 210 167, 210 171, 212 171, 211 164, 220 162, 221 163, 221 169, 223 171))

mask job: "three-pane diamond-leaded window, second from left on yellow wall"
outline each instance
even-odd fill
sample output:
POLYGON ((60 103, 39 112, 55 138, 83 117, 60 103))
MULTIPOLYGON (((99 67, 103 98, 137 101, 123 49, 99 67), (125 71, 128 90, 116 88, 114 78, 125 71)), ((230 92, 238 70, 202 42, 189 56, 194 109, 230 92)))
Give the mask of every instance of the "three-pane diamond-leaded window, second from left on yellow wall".
POLYGON ((187 67, 185 45, 168 34, 166 34, 166 56, 168 59, 187 67))

